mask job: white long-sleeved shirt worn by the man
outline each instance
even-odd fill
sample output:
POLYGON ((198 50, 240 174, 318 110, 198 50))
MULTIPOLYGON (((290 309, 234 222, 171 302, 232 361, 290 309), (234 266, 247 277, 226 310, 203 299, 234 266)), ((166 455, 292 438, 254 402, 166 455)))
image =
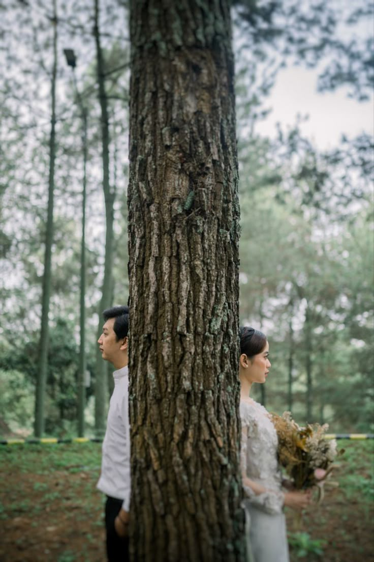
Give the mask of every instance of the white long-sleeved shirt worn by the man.
POLYGON ((131 473, 127 366, 114 371, 113 378, 114 390, 109 402, 101 475, 97 487, 107 496, 123 500, 122 509, 129 511, 131 473))

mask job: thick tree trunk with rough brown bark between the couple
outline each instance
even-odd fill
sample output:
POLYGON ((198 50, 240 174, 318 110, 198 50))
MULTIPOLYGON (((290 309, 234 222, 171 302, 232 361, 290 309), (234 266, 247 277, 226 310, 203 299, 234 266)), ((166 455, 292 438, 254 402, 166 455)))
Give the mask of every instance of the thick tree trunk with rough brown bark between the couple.
POLYGON ((131 2, 133 560, 241 560, 229 2, 131 2))

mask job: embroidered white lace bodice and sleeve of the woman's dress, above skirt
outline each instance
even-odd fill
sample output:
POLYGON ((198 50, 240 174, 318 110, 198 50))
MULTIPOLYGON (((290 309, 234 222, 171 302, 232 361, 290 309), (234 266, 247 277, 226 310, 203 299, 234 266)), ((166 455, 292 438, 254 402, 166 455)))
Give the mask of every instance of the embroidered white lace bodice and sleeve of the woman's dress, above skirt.
POLYGON ((242 474, 266 488, 256 495, 244 485, 244 494, 251 505, 267 513, 280 513, 284 504, 281 492, 281 472, 276 451, 278 437, 269 413, 254 400, 240 402, 242 422, 242 474))

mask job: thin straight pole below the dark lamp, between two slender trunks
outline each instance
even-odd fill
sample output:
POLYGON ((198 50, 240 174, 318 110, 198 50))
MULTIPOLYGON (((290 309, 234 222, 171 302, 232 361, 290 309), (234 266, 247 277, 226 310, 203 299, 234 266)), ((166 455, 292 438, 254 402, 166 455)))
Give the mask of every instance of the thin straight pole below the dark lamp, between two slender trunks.
POLYGON ((82 240, 81 240, 81 287, 80 287, 80 348, 78 380, 78 436, 85 434, 85 373, 86 373, 86 183, 87 183, 87 113, 82 106, 82 147, 83 147, 83 187, 82 187, 82 240))

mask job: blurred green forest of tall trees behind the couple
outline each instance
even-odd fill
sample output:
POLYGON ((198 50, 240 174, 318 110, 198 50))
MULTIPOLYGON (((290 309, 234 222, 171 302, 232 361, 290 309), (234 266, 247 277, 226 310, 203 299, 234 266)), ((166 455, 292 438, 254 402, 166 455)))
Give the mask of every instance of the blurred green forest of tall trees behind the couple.
MULTIPOLYGON (((128 300, 127 4, 0 9, 0 429, 100 435, 113 379, 99 313, 128 300)), ((240 315, 266 332, 273 364, 255 397, 331 432, 373 431, 372 12, 359 0, 232 8, 240 315), (366 103, 367 129, 323 149, 300 116, 261 134, 295 64, 321 92, 366 103)))

